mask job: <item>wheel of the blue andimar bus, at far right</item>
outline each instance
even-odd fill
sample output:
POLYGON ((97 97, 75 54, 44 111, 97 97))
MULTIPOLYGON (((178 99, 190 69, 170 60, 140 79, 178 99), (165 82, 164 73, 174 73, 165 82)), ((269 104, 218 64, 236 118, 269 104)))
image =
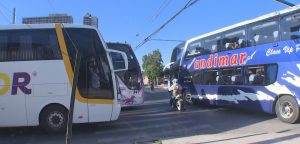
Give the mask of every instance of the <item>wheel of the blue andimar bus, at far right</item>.
POLYGON ((285 123, 296 123, 299 120, 299 105, 297 101, 288 95, 278 98, 275 106, 277 117, 285 123))

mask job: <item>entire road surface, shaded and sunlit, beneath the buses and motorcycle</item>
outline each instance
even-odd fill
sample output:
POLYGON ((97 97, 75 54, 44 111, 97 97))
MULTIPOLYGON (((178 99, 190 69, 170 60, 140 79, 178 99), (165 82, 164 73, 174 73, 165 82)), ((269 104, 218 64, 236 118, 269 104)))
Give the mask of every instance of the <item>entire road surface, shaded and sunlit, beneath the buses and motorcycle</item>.
MULTIPOLYGON (((194 105, 173 111, 164 89, 147 89, 145 100, 123 108, 117 121, 75 125, 72 143, 300 143, 300 124, 285 124, 273 115, 194 105)), ((38 127, 0 128, 0 144, 64 142, 63 134, 49 135, 38 127)))

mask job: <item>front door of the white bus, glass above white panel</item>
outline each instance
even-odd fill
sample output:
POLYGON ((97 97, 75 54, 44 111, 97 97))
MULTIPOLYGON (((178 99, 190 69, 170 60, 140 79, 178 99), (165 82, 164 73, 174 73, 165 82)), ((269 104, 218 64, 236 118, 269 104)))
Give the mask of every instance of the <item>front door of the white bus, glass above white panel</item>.
POLYGON ((86 71, 89 122, 109 121, 114 99, 109 63, 101 56, 89 56, 82 68, 86 71))

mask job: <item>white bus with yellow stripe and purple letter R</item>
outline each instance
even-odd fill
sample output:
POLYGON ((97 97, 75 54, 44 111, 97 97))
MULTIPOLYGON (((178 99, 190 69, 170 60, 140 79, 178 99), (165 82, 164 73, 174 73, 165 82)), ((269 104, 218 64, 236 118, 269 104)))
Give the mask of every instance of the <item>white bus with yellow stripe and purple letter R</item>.
POLYGON ((0 127, 66 129, 76 53, 82 55, 73 123, 116 120, 121 106, 109 52, 99 31, 71 24, 0 27, 0 127))

